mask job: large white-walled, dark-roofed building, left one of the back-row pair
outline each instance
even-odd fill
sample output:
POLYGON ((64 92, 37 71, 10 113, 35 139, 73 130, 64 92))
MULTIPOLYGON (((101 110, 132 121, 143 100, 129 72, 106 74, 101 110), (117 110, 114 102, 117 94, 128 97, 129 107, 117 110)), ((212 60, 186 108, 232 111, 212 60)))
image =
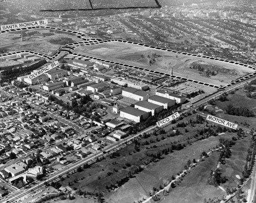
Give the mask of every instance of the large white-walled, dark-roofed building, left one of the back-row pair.
POLYGON ((148 92, 138 90, 133 87, 127 87, 122 90, 122 96, 129 97, 138 101, 143 101, 148 99, 148 92))

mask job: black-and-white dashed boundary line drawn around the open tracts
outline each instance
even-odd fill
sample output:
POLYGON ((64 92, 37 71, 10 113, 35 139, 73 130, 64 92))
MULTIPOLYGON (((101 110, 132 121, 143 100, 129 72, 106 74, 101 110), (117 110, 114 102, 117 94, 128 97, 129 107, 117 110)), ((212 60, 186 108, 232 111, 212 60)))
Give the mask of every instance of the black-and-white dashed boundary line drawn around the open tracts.
POLYGON ((90 38, 90 39, 88 39, 88 38, 84 38, 84 36, 86 36, 86 34, 84 34, 84 33, 71 31, 71 30, 67 30, 67 29, 49 27, 49 26, 34 26, 34 27, 28 27, 28 28, 9 29, 9 30, 0 31, 0 34, 8 33, 8 32, 15 32, 15 31, 30 30, 30 29, 51 29, 51 30, 58 30, 58 31, 62 31, 62 32, 73 33, 73 34, 77 35, 75 37, 77 37, 79 39, 82 39, 83 41, 82 42, 73 42, 73 43, 61 46, 59 49, 57 49, 57 53, 52 57, 46 56, 44 54, 32 52, 30 50, 19 50, 17 52, 6 53, 6 54, 0 55, 0 57, 11 56, 11 55, 19 54, 19 53, 30 53, 30 54, 34 54, 34 55, 37 55, 39 57, 45 58, 48 61, 52 61, 55 58, 57 58, 60 55, 61 52, 67 52, 67 53, 69 53, 73 56, 80 57, 80 59, 94 59, 94 60, 97 60, 97 61, 106 62, 106 63, 110 63, 110 64, 114 64, 114 65, 120 65, 120 66, 123 66, 123 67, 132 68, 132 69, 136 69, 136 70, 142 70, 142 71, 146 71, 146 72, 157 73, 157 74, 161 74, 163 77, 164 76, 172 77, 174 79, 193 82, 193 83, 196 83, 196 84, 199 84, 199 85, 204 85, 204 86, 208 86, 208 87, 217 88, 219 90, 224 90, 229 86, 235 85, 239 82, 242 82, 242 81, 244 81, 246 79, 249 79, 249 78, 253 77, 254 75, 256 75, 256 68, 255 67, 247 65, 247 64, 243 64, 243 63, 240 63, 240 62, 236 62, 236 61, 231 61, 231 60, 227 60, 227 59, 220 59, 220 58, 215 58, 215 57, 209 57, 209 56, 204 56, 204 55, 199 55, 199 54, 189 54, 189 53, 185 53, 185 52, 178 52, 176 50, 160 48, 160 47, 151 46, 151 45, 147 45, 147 44, 143 44, 143 43, 131 42, 131 41, 120 40, 120 39, 109 39, 109 40, 102 40, 102 39, 99 39, 99 38, 90 38), (200 82, 200 81, 197 81, 197 80, 192 80, 192 79, 179 77, 179 76, 176 76, 176 75, 173 75, 173 74, 171 75, 171 74, 160 72, 160 71, 154 71, 154 70, 150 70, 150 69, 146 69, 146 68, 142 68, 142 67, 132 66, 132 65, 128 65, 128 64, 124 64, 124 63, 118 63, 118 62, 114 62, 114 61, 109 61, 109 60, 105 60, 105 59, 101 59, 101 58, 97 58, 97 57, 91 57, 91 56, 86 56, 86 55, 73 53, 73 50, 78 46, 94 45, 94 44, 109 43, 109 42, 122 42, 122 43, 128 43, 128 44, 135 44, 135 45, 144 46, 144 47, 147 47, 147 48, 153 48, 153 49, 156 49, 156 50, 163 50, 165 52, 172 52, 172 53, 175 53, 175 54, 181 54, 181 55, 192 56, 192 57, 199 57, 199 58, 210 59, 210 60, 215 60, 215 61, 222 61, 222 62, 231 63, 231 64, 235 64, 235 65, 241 65, 241 66, 250 68, 250 69, 254 70, 254 72, 250 73, 250 74, 246 75, 245 77, 243 77, 241 79, 238 79, 238 80, 236 80, 236 81, 234 81, 234 82, 232 82, 232 83, 230 83, 226 86, 217 86, 217 85, 212 85, 212 84, 200 82))

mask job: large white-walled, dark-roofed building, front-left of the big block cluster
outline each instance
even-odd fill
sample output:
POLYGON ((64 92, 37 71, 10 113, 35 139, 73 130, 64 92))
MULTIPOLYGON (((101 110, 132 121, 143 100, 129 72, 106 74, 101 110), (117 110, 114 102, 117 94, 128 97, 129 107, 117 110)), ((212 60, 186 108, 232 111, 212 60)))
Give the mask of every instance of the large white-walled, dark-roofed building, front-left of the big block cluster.
POLYGON ((140 122, 147 119, 150 116, 150 113, 135 109, 133 107, 126 107, 120 110, 120 117, 132 120, 134 122, 140 122))

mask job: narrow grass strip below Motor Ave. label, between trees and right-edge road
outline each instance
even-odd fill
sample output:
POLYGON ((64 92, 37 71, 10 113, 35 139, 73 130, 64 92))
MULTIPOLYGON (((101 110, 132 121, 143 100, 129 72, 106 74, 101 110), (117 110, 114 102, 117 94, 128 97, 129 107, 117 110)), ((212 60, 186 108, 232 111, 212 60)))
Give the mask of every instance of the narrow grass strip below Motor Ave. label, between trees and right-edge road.
POLYGON ((248 154, 247 149, 250 146, 250 136, 244 137, 241 140, 237 140, 236 144, 231 147, 232 156, 225 160, 225 165, 221 165, 222 176, 226 176, 228 181, 221 186, 225 189, 236 188, 239 183, 236 175, 242 177, 244 170, 246 156, 248 154))

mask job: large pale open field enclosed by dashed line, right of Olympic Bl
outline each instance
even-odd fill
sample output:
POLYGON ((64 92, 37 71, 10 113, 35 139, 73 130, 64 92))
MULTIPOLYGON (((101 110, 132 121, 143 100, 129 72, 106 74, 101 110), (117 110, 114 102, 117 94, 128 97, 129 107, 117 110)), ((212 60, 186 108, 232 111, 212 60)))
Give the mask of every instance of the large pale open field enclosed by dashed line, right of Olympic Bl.
POLYGON ((232 80, 236 80, 242 75, 253 72, 253 70, 240 65, 233 65, 221 61, 212 61, 193 56, 184 56, 181 54, 169 53, 162 50, 155 50, 153 48, 121 42, 109 42, 77 47, 75 52, 165 73, 169 73, 170 68, 173 68, 174 75, 218 86, 227 85, 232 80), (157 57, 154 57, 155 61, 150 63, 150 60, 148 59, 152 59, 152 56, 156 55, 157 57), (201 65, 201 67, 209 68, 210 70, 219 69, 222 71, 214 76, 204 77, 200 74, 200 71, 189 68, 193 65, 201 65))

